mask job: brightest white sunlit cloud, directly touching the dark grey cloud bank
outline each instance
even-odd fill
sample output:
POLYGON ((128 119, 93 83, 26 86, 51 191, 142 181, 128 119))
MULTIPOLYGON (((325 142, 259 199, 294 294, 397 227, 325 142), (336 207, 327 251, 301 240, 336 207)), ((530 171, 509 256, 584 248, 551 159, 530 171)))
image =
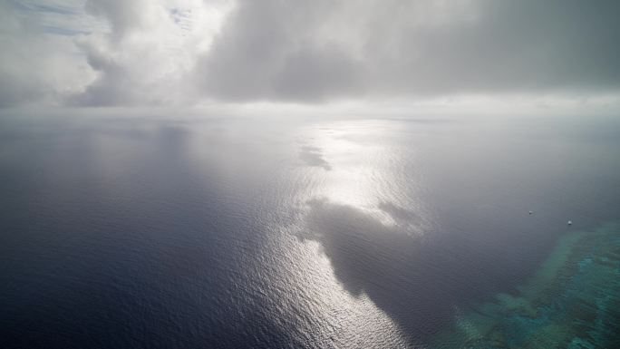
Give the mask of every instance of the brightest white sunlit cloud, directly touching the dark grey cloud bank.
POLYGON ((111 30, 79 43, 99 77, 73 103, 152 105, 195 99, 189 73, 218 30, 223 10, 199 0, 89 0, 86 9, 105 18, 111 30))

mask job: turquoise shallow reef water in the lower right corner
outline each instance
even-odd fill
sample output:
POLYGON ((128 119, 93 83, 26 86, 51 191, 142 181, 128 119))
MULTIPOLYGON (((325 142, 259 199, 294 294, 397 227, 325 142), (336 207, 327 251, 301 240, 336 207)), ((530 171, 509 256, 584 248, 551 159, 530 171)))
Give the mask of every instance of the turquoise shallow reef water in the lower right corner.
POLYGON ((620 223, 568 232, 513 294, 458 312, 437 347, 612 348, 620 343, 620 223))

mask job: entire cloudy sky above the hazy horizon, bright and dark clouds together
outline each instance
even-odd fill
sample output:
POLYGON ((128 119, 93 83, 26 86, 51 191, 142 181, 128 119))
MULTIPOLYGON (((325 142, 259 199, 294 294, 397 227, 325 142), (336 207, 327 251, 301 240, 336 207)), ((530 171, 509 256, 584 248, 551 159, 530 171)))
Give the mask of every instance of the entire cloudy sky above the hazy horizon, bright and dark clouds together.
POLYGON ((617 0, 0 0, 0 107, 618 96, 617 0))

